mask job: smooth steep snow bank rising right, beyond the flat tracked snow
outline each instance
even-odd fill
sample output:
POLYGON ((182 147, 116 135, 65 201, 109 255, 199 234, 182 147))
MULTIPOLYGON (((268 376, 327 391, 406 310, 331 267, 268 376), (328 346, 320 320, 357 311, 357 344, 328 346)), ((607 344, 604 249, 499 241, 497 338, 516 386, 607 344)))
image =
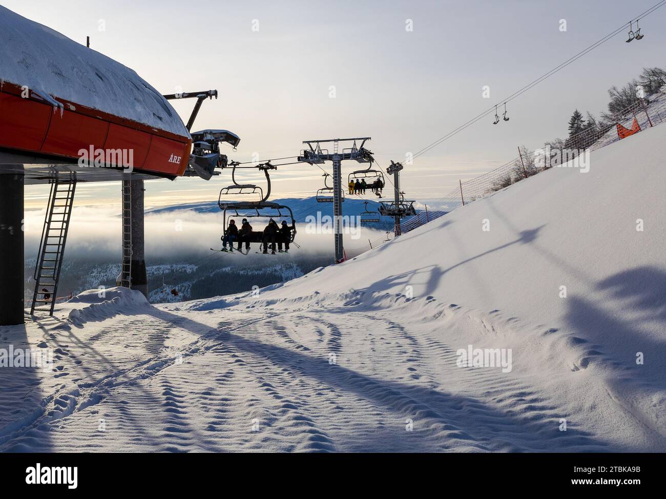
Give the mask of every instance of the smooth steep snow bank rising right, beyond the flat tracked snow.
POLYGON ((612 419, 608 428, 630 414, 664 442, 665 136, 666 127, 644 129, 594 151, 588 173, 555 167, 260 296, 286 303, 322 292, 334 303, 356 292, 347 310, 388 310, 382 297, 424 314, 433 300, 476 310, 456 348, 479 330, 496 336, 501 312, 514 348, 531 352, 521 356, 531 372, 587 372, 564 392, 552 388, 560 396, 593 402, 589 417, 612 419))

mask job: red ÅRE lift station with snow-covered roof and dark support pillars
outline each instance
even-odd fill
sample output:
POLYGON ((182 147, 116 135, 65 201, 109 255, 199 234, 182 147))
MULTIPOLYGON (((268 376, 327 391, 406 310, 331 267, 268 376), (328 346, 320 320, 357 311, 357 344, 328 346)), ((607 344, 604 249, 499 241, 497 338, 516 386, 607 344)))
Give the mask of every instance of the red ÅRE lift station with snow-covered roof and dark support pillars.
MULTIPOLYGON (((213 95, 186 95, 198 97, 189 126, 213 95)), ((0 325, 24 319, 24 185, 51 184, 33 308, 52 311, 76 183, 123 181, 123 272, 141 289, 143 180, 196 175, 191 148, 168 99, 135 71, 0 6, 0 325)))

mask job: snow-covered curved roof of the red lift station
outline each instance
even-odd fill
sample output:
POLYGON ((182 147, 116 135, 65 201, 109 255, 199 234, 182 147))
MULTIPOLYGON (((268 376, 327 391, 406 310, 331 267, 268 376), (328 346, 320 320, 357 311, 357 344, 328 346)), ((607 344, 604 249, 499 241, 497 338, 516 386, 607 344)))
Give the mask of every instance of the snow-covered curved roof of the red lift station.
POLYGON ((178 113, 135 71, 0 5, 0 85, 25 85, 58 105, 59 97, 189 137, 178 113))

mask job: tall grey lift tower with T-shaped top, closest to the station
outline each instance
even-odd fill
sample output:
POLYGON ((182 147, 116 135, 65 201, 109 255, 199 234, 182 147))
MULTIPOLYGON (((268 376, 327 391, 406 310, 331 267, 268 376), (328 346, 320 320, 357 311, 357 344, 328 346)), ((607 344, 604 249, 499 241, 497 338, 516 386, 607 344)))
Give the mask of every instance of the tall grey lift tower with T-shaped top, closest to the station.
POLYGON ((353 159, 358 163, 372 163, 372 153, 363 146, 370 137, 354 137, 352 139, 327 139, 324 141, 303 141, 310 149, 302 151, 298 161, 310 163, 310 165, 320 165, 325 161, 333 162, 333 235, 335 241, 335 261, 344 262, 344 246, 342 243, 342 161, 353 159), (357 147, 356 141, 361 145, 357 147), (324 143, 333 143, 333 151, 322 149, 324 143), (352 142, 352 147, 338 149, 340 142, 352 142))

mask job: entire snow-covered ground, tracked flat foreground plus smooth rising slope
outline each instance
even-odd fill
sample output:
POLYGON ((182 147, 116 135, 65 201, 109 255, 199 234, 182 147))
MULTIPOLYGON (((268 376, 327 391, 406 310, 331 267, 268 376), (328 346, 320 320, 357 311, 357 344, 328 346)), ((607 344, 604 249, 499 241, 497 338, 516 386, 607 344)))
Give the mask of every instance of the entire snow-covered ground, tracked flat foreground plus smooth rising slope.
POLYGON ((58 353, 0 368, 0 450, 663 452, 665 135, 286 284, 2 328, 58 353))

